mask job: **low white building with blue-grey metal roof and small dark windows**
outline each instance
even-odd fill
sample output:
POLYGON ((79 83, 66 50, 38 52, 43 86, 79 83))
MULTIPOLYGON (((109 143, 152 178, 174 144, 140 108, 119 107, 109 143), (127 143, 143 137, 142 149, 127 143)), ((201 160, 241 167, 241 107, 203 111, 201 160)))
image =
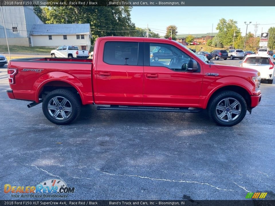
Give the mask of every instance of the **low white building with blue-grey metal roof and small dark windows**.
POLYGON ((90 24, 35 24, 30 37, 32 46, 74 45, 83 50, 91 47, 90 24))

